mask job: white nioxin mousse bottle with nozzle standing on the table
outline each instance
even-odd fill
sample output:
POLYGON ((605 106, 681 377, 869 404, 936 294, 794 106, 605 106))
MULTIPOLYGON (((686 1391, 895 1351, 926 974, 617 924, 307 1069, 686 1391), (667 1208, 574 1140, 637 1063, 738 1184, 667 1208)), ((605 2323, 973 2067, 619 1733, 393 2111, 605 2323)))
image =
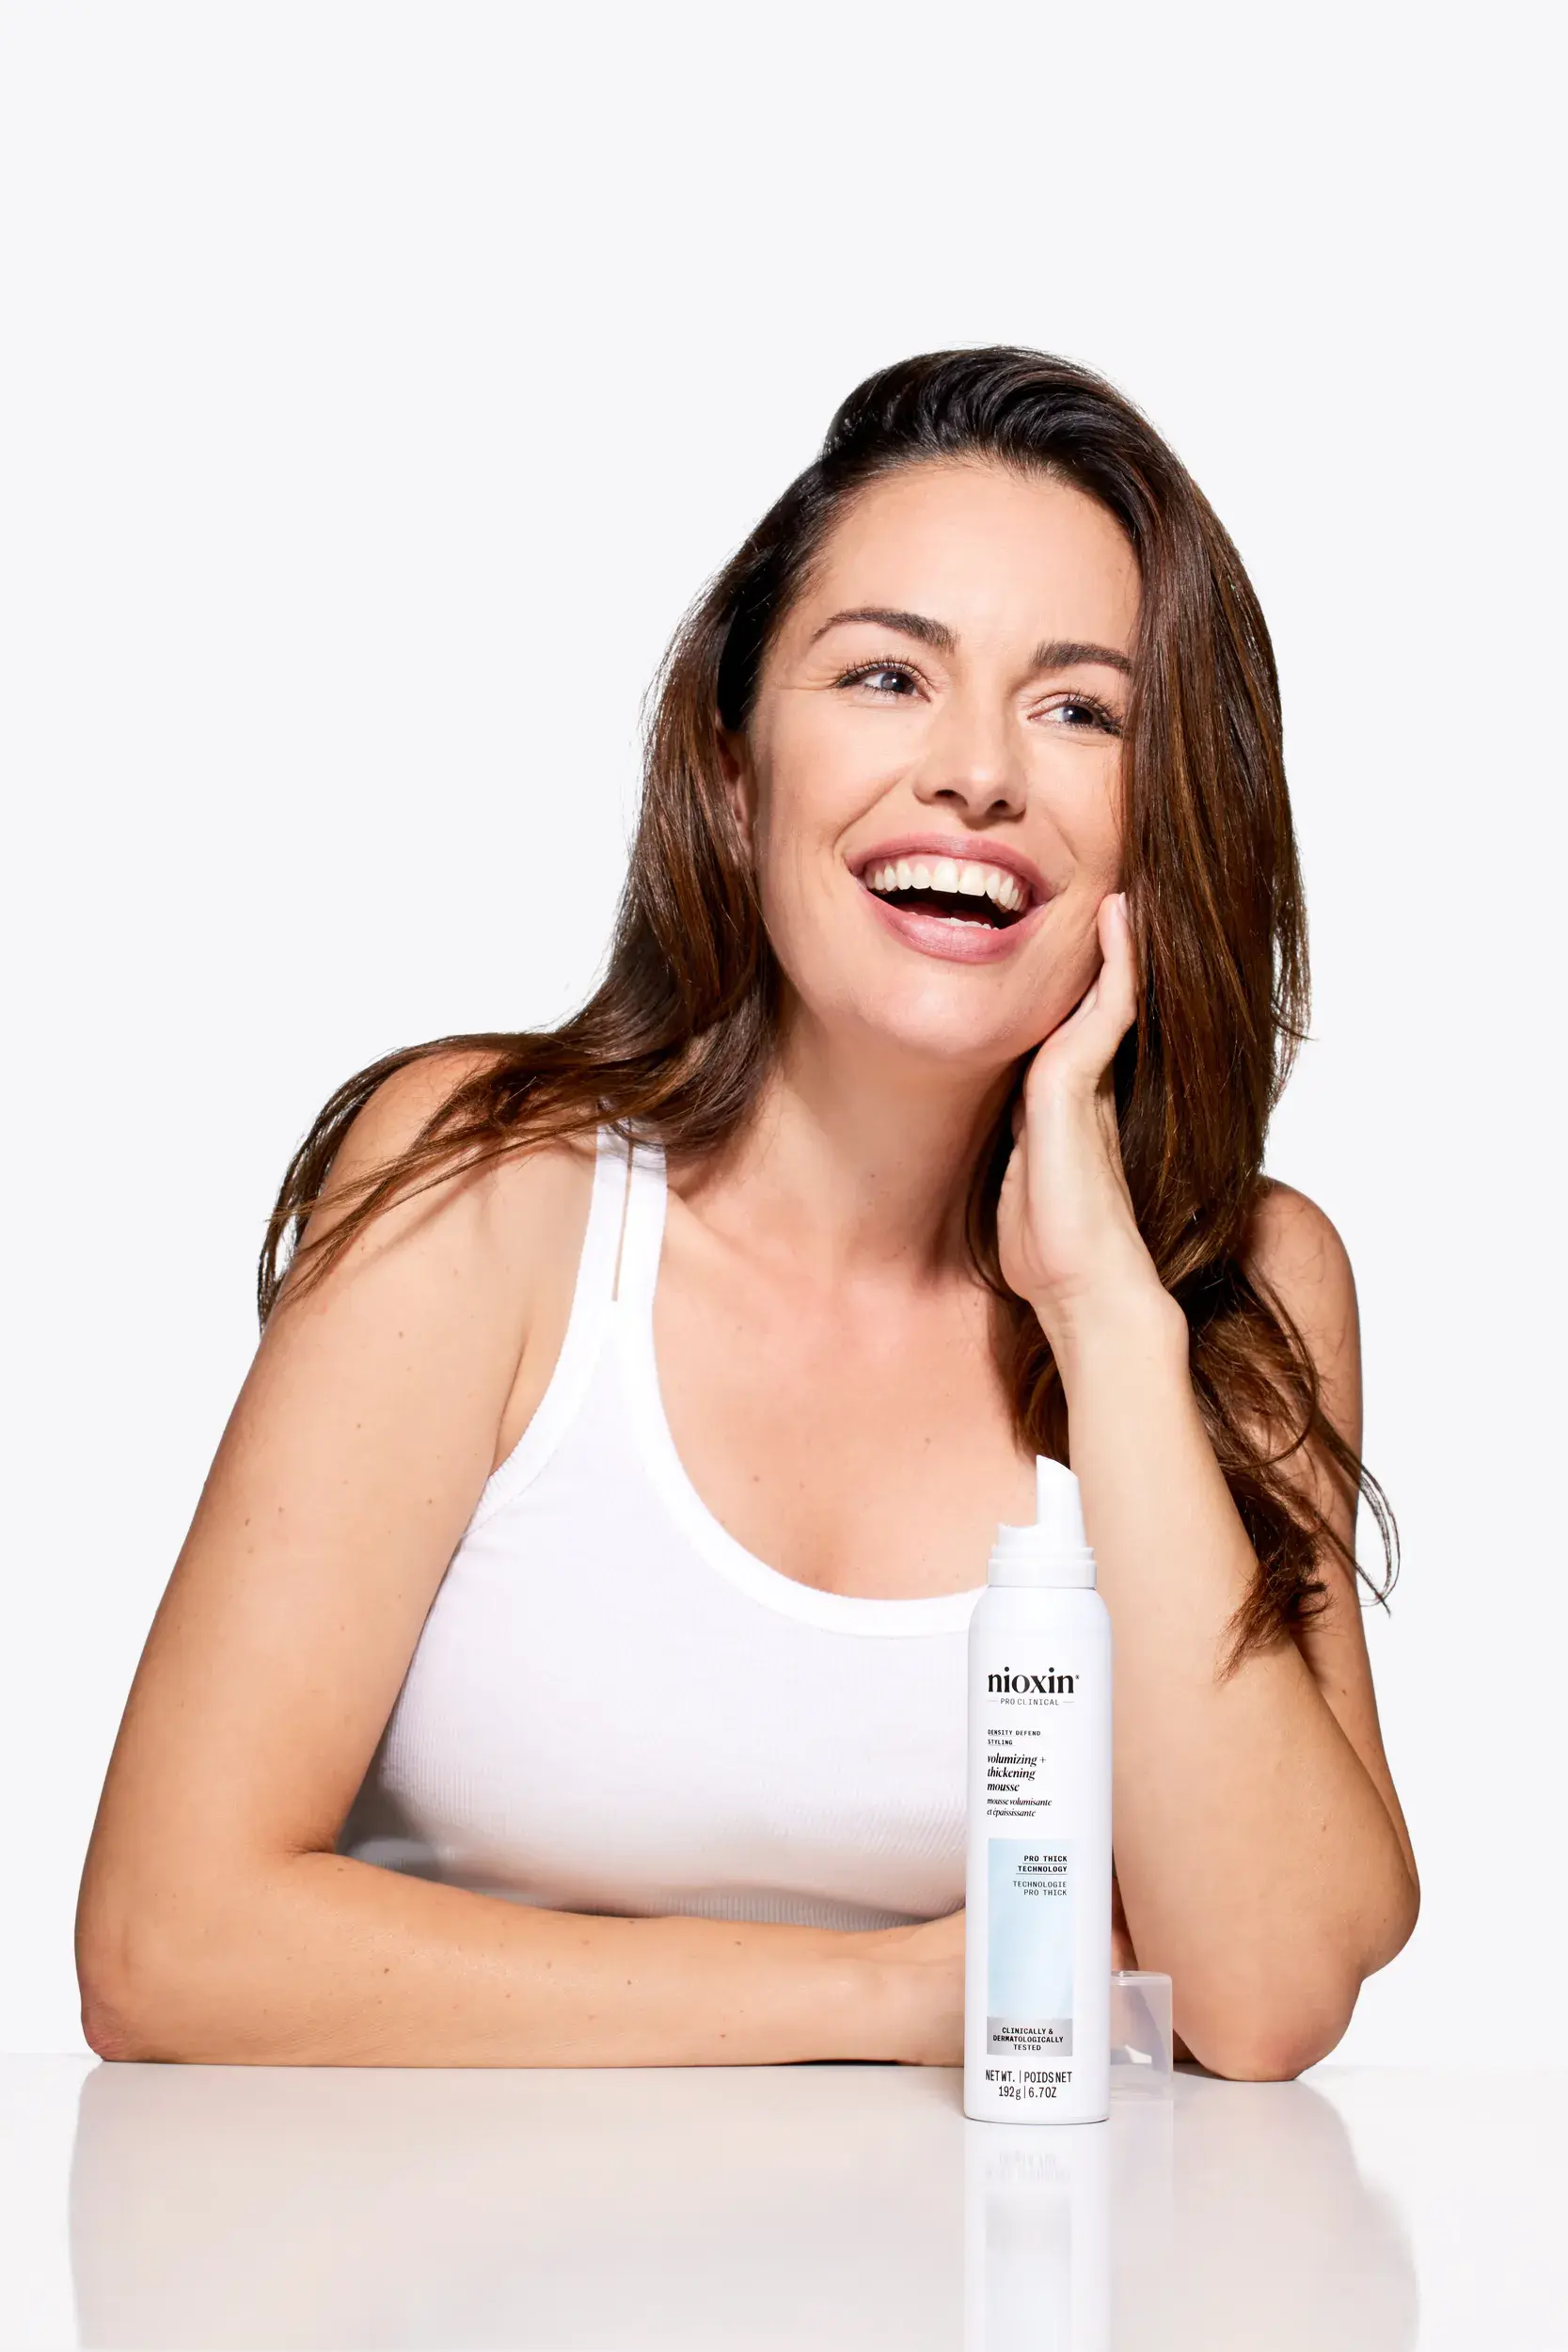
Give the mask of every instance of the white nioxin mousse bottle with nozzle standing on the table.
POLYGON ((1079 1482, 1034 1463, 969 1618, 964 2114, 1110 2114, 1110 1613, 1079 1482))

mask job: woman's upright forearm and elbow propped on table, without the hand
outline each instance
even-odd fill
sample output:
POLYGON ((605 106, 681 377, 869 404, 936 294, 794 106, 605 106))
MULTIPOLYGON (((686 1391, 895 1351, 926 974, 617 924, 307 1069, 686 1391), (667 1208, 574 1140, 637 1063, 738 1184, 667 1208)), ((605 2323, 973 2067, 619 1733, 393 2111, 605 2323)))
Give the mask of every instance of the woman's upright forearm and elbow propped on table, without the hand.
POLYGON ((1225 2074, 1295 2074, 1399 1950, 1389 1811, 1291 1639, 1227 1672, 1258 1559, 1154 1282, 1053 1315, 1070 1458, 1114 1630, 1117 1879, 1138 1964, 1225 2074))

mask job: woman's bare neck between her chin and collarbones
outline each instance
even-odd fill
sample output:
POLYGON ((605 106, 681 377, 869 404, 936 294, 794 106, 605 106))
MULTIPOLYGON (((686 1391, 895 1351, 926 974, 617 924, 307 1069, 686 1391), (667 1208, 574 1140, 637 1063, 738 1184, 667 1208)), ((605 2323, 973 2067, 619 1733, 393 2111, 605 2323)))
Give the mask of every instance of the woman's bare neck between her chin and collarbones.
POLYGON ((715 1230, 825 1284, 966 1263, 964 1204, 1011 1070, 945 1070, 825 1035, 799 1014, 736 1138, 679 1190, 715 1230))

